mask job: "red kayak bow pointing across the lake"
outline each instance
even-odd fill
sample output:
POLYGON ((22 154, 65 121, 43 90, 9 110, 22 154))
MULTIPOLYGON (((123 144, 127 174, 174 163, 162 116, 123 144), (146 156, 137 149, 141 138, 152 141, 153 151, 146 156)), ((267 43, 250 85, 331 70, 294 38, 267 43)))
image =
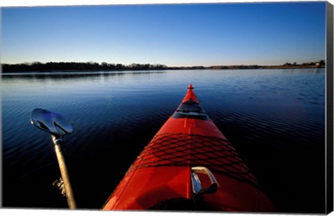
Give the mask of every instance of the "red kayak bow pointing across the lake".
POLYGON ((191 85, 102 209, 276 211, 191 85))

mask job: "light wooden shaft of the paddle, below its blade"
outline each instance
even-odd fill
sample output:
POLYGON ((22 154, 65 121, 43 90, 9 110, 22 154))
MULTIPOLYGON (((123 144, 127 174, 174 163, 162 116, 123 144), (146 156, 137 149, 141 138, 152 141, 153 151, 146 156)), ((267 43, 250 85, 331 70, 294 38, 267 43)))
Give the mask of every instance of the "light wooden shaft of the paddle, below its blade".
POLYGON ((59 169, 61 170, 61 178, 63 178, 63 183, 65 187, 65 194, 67 198, 67 203, 70 209, 76 209, 77 205, 74 200, 74 195, 72 192, 72 186, 70 183, 70 178, 67 173, 67 168, 65 164, 65 158, 63 156, 63 153, 61 151, 61 144, 63 142, 62 139, 56 139, 56 137, 52 136, 52 140, 54 141, 54 150, 56 151, 57 160, 59 169))

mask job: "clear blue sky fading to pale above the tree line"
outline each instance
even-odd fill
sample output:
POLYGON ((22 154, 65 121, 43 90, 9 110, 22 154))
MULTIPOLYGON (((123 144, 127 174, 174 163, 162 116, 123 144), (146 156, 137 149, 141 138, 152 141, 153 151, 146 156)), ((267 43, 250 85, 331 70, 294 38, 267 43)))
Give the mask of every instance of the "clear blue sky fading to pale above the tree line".
POLYGON ((326 3, 1 8, 1 63, 276 65, 325 59, 326 3))

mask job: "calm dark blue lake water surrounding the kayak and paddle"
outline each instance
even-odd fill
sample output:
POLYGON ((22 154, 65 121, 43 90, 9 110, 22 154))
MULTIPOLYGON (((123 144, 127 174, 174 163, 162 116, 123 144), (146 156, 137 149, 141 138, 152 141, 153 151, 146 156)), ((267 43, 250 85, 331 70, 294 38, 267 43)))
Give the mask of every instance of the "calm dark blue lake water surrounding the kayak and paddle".
POLYGON ((3 206, 67 208, 49 134, 63 114, 77 206, 99 209, 193 84, 203 109, 281 212, 324 213, 325 71, 184 70, 2 75, 3 206))

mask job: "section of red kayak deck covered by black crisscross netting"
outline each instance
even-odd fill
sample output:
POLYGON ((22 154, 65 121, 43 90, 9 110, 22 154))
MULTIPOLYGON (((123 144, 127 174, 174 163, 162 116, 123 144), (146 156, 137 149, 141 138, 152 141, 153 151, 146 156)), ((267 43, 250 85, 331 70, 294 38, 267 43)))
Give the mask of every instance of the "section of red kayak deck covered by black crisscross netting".
POLYGON ((204 166, 210 171, 257 184, 228 140, 221 137, 183 133, 157 134, 128 172, 161 166, 204 166))

